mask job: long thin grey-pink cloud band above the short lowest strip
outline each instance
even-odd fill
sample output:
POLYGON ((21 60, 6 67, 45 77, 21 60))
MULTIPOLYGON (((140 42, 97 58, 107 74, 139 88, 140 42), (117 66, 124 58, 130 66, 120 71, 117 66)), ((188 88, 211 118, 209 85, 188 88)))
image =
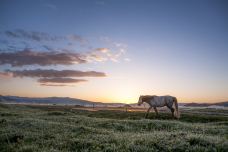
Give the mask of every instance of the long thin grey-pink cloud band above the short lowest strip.
POLYGON ((6 70, 6 74, 12 74, 13 77, 106 77, 104 72, 97 71, 78 71, 78 70, 22 70, 22 71, 11 71, 6 70))

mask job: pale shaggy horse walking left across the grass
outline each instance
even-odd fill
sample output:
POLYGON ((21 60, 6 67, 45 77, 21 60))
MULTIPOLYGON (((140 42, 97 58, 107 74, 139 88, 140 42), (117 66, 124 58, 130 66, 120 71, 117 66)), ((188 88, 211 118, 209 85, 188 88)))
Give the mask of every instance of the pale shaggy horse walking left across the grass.
POLYGON ((145 115, 145 118, 147 118, 150 110, 154 108, 154 111, 156 112, 156 116, 158 115, 157 107, 168 107, 170 111, 172 112, 173 118, 180 118, 180 113, 178 110, 178 103, 177 98, 173 96, 156 96, 156 95, 141 95, 138 100, 138 106, 140 106, 142 103, 148 103, 149 109, 147 110, 147 113, 145 115), (175 109, 173 108, 173 104, 175 105, 175 109))

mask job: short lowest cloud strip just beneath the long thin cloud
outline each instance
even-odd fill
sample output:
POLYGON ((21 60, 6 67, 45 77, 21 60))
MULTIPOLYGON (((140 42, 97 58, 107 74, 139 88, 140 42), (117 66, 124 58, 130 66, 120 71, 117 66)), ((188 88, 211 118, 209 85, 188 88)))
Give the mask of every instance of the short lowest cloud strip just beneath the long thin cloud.
MULTIPOLYGON (((84 79, 73 79, 73 78, 40 78, 38 82, 41 84, 45 83, 79 83, 86 82, 84 79)), ((50 85, 50 84, 49 84, 50 85)))

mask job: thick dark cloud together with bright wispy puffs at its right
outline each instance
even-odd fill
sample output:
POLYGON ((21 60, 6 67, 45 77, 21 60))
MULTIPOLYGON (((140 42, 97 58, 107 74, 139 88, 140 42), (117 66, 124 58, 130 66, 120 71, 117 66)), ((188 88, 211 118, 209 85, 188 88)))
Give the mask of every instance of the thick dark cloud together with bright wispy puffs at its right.
POLYGON ((23 51, 0 52, 0 65, 9 64, 12 67, 25 65, 73 65, 88 62, 117 62, 124 50, 112 53, 108 48, 97 48, 90 52, 75 53, 66 49, 62 51, 52 51, 52 48, 43 46, 48 51, 34 51, 25 49, 23 51))

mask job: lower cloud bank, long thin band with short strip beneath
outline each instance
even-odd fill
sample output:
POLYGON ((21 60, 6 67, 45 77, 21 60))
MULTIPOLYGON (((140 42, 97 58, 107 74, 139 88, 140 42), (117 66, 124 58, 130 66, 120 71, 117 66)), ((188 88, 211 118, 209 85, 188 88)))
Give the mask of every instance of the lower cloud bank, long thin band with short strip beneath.
POLYGON ((30 77, 38 78, 37 82, 42 86, 66 86, 72 83, 87 82, 86 79, 76 79, 74 77, 106 77, 104 72, 97 71, 78 71, 78 70, 5 70, 0 72, 0 77, 30 77))

